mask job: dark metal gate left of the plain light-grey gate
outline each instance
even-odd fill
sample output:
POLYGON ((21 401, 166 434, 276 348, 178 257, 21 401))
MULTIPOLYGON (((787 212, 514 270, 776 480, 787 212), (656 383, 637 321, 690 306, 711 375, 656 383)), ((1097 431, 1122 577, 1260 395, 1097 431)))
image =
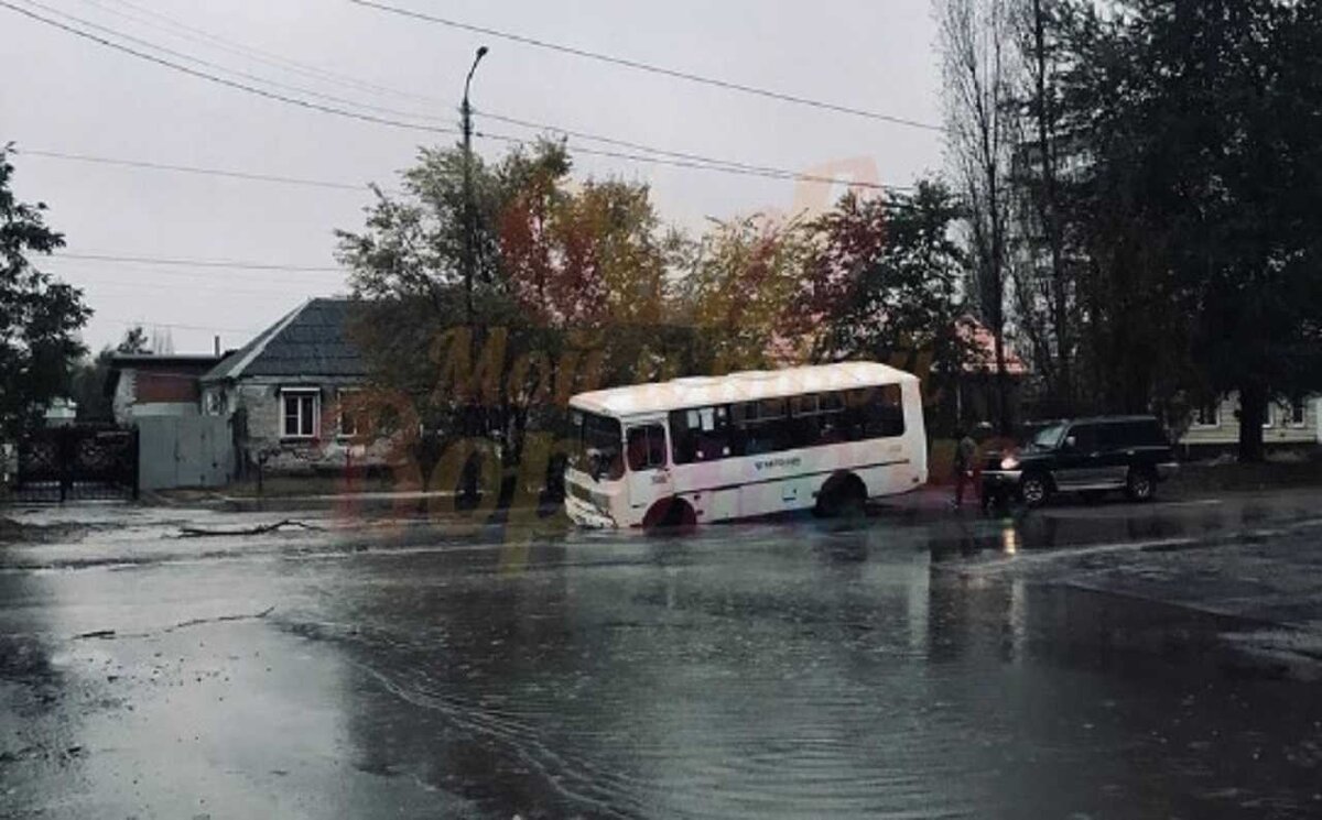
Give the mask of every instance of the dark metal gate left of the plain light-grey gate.
POLYGON ((53 427, 19 442, 21 500, 137 498, 137 432, 53 427))

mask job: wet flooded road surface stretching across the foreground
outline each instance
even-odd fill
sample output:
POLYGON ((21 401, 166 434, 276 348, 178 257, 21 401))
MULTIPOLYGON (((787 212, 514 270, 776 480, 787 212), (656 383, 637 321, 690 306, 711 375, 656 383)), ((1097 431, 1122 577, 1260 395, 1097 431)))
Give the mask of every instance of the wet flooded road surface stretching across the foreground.
POLYGON ((1317 816, 1243 623, 995 572, 1290 514, 1128 510, 0 547, 0 816, 1317 816))

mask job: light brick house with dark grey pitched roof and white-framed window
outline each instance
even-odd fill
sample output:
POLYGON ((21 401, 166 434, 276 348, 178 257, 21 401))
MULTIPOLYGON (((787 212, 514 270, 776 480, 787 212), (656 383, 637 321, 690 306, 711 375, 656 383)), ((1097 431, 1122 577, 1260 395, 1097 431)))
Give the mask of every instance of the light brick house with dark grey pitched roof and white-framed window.
POLYGON ((202 413, 230 420, 241 474, 256 465, 329 473, 374 461, 353 440, 346 401, 368 376, 349 341, 350 310, 349 300, 308 300, 202 376, 202 413))

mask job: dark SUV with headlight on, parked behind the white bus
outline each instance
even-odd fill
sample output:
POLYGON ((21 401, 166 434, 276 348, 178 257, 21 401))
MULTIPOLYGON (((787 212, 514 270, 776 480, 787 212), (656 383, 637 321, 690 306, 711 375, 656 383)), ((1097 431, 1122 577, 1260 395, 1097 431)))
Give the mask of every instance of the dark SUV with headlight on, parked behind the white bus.
POLYGON ((1113 490, 1149 500, 1178 469, 1175 452, 1151 416, 1099 416, 1039 423, 1023 446, 992 453, 982 469, 982 498, 1017 496, 1040 507, 1056 493, 1096 498, 1113 490))

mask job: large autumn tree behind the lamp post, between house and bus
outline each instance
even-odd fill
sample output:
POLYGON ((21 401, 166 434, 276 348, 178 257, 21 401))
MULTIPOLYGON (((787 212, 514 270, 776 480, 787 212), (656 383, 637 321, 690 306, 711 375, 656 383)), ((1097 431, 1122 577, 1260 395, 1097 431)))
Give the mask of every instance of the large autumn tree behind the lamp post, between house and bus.
MULTIPOLYGON (((403 191, 377 191, 362 231, 340 232, 360 298, 354 334, 382 390, 424 430, 423 471, 457 438, 498 442, 517 463, 525 434, 554 425, 582 390, 633 380, 664 347, 674 240, 646 186, 571 180, 562 143, 475 160, 477 275, 463 288, 464 165, 428 149, 403 191)), ((662 357, 669 358, 669 357, 662 357)))

